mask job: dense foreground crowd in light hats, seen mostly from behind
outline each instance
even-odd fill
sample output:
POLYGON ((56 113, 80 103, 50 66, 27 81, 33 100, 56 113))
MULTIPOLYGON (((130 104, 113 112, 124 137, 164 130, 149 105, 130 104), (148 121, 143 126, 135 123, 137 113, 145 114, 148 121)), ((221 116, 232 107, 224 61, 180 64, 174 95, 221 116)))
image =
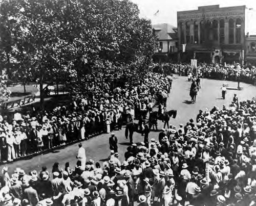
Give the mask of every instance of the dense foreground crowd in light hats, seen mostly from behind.
MULTIPOLYGON (((49 172, 4 167, 3 205, 256 205, 256 98, 199 111, 100 165, 79 159, 49 172), (84 165, 83 165, 84 164, 84 165)), ((81 144, 79 149, 82 148, 81 144)), ((84 152, 84 150, 83 150, 84 152)))

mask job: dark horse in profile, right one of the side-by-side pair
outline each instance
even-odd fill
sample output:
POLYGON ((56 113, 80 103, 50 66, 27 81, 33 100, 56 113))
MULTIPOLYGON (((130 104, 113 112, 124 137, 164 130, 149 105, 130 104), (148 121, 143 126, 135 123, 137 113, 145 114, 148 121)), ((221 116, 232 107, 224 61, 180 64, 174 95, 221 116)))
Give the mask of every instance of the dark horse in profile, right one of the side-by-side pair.
POLYGON ((154 125, 155 125, 156 130, 157 130, 157 120, 158 119, 164 121, 164 128, 165 128, 165 125, 167 125, 167 128, 169 128, 170 117, 173 117, 175 119, 176 116, 177 116, 177 110, 166 111, 163 114, 159 114, 157 111, 151 112, 150 119, 149 119, 150 128, 151 128, 151 126, 154 127, 154 125))

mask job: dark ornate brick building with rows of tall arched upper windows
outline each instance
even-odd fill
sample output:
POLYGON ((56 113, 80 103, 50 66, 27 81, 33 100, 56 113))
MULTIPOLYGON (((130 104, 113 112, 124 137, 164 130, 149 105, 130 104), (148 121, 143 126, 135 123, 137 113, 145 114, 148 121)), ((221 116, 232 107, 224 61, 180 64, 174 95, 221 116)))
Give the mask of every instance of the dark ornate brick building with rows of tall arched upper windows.
POLYGON ((219 5, 177 12, 181 60, 200 62, 242 62, 245 49, 245 6, 219 5))

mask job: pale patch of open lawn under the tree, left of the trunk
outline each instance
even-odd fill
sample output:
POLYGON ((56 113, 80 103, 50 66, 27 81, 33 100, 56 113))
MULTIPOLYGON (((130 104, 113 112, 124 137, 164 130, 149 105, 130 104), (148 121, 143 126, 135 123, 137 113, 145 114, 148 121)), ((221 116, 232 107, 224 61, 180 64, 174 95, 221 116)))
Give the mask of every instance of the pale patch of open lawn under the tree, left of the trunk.
POLYGON ((23 85, 8 87, 8 89, 12 92, 9 101, 23 99, 25 96, 34 95, 38 91, 38 89, 32 85, 26 85, 26 93, 24 93, 23 85))

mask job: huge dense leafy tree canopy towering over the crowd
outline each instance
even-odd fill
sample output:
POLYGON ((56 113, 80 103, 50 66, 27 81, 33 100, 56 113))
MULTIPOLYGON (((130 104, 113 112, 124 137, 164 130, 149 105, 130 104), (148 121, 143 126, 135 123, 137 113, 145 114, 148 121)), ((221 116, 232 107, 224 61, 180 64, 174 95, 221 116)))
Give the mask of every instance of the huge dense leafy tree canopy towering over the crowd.
MULTIPOLYGON (((151 22, 128 0, 3 0, 0 66, 9 78, 81 84, 88 73, 132 65, 143 73, 153 55, 151 22), (14 75, 13 75, 14 74, 14 75)), ((41 104, 42 105, 42 104, 41 104)))

